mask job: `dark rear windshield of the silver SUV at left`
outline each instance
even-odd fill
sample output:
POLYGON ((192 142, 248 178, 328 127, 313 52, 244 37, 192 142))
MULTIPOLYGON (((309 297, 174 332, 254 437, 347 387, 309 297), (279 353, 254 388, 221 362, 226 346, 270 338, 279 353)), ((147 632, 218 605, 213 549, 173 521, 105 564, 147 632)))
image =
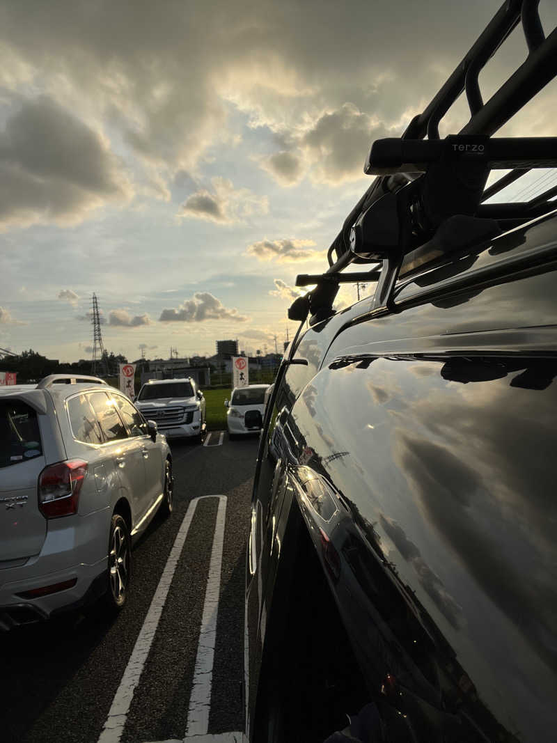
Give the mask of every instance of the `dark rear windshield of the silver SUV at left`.
POLYGON ((36 412, 22 400, 0 403, 0 467, 42 455, 36 412))

